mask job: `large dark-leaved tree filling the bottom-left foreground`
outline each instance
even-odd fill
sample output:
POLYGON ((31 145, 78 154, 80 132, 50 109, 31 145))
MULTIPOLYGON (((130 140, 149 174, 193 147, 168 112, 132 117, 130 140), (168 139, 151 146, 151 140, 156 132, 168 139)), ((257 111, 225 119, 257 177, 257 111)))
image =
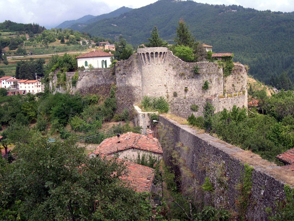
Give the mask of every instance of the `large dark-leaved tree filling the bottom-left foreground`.
POLYGON ((33 140, 0 167, 1 220, 150 220, 147 194, 121 179, 117 158, 89 158, 73 141, 47 143, 39 133, 33 140))

